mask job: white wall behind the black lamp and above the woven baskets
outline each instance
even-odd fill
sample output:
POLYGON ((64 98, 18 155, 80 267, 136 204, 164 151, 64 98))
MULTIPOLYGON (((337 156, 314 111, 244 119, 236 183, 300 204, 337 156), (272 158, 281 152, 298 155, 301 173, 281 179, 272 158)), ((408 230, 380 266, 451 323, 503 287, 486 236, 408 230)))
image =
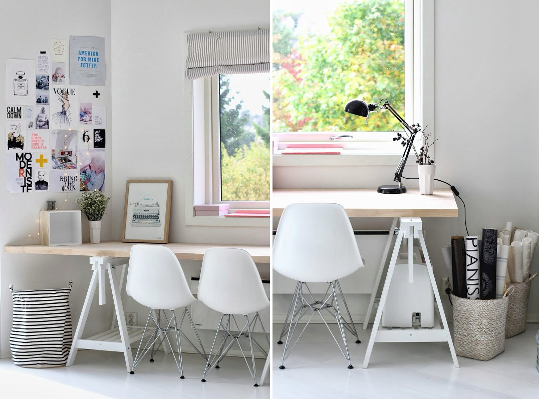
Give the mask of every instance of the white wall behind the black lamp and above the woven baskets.
MULTIPOLYGON (((480 235, 482 227, 502 228, 506 221, 539 231, 538 12, 534 0, 435 2, 436 174, 460 191, 472 235, 480 235)), ((405 176, 417 176, 410 164, 405 176)), ((376 187, 390 183, 394 169, 274 167, 273 186, 376 187)), ((437 281, 447 274, 440 248, 451 235, 466 234, 457 202, 458 219, 423 219, 437 281)), ((539 254, 531 270, 539 271, 539 254)), ((539 321, 537 282, 531 288, 528 320, 539 321)))

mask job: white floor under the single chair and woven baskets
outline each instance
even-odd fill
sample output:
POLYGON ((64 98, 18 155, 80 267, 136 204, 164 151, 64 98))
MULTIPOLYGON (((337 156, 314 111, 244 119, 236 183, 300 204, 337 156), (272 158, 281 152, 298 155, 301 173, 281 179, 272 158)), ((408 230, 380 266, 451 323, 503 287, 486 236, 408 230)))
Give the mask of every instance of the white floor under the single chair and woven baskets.
MULTIPOLYGON (((333 325, 335 327, 335 325, 333 325)), ((368 369, 362 369, 370 328, 358 326, 361 344, 349 335, 354 369, 322 324, 309 325, 280 370, 282 325, 273 328, 273 398, 534 398, 539 397, 535 368, 539 324, 506 339, 505 352, 487 362, 458 357, 453 367, 447 343, 377 343, 368 369)), ((337 334, 337 328, 334 330, 337 334)), ((337 335, 336 335, 337 336, 337 335)))

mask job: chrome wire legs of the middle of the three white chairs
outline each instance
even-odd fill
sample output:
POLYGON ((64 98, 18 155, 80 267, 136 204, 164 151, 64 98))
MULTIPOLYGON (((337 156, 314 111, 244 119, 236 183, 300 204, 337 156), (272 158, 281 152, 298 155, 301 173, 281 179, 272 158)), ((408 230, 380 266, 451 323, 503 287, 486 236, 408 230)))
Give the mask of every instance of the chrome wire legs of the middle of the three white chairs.
POLYGON ((255 314, 254 318, 249 320, 249 317, 245 314, 245 326, 243 328, 239 328, 238 323, 236 321, 236 318, 233 314, 223 314, 221 316, 221 320, 219 321, 219 326, 217 327, 217 331, 215 333, 215 339, 213 340, 213 345, 211 346, 210 353, 208 355, 208 363, 206 363, 206 368, 204 369, 204 375, 202 376, 202 382, 206 382, 205 377, 206 374, 210 372, 212 368, 219 368, 219 362, 223 360, 223 357, 226 356, 226 354, 230 351, 230 348, 234 344, 234 342, 237 342, 238 347, 241 351, 241 355, 243 356, 245 363, 247 364, 247 368, 249 370, 249 373, 251 373, 251 377, 254 380, 254 386, 258 387, 258 377, 257 377, 257 366, 254 363, 254 351, 253 346, 256 346, 263 354, 264 356, 268 356, 269 351, 269 339, 266 334, 266 330, 264 329, 264 325, 262 325, 262 320, 260 320, 260 315, 258 312, 255 314), (257 320, 260 324, 260 327, 262 328, 262 332, 264 333, 264 337, 267 341, 268 351, 266 351, 264 348, 260 346, 260 344, 252 337, 251 332, 253 331, 257 320), (234 331, 238 332, 232 332, 231 331, 231 321, 233 322, 233 325, 236 327, 234 331), (217 339, 219 338, 219 332, 222 331, 222 338, 221 343, 217 344, 217 339), (230 342, 227 342, 230 338, 230 342), (241 348, 239 339, 240 338, 248 338, 249 339, 249 345, 251 348, 251 364, 252 368, 249 365, 249 362, 247 361, 247 358, 245 357, 245 353, 243 351, 243 348, 241 348), (217 348, 217 351, 215 354, 213 354, 213 349, 216 348, 216 344, 219 345, 219 348, 217 348))

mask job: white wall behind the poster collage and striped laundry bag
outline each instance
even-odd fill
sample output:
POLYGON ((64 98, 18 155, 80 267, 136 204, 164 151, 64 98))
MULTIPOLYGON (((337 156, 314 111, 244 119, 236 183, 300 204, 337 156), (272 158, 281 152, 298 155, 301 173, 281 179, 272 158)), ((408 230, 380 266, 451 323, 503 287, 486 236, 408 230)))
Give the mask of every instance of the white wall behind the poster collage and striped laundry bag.
MULTIPOLYGON (((0 3, 0 109, 4 110, 5 68, 4 59, 21 58, 36 59, 39 51, 49 51, 52 39, 65 39, 68 43, 70 35, 99 36, 105 38, 107 57, 107 81, 105 87, 82 86, 79 100, 88 100, 94 104, 107 106, 108 129, 110 135, 110 1, 95 0, 88 2, 72 0, 58 2, 51 0, 15 0, 0 3), (84 10, 82 12, 81 10, 84 10), (24 16, 21 17, 21 11, 24 16), (98 100, 91 95, 98 88, 101 95, 98 100)), ((2 114, 2 121, 4 121, 2 114)), ((2 126, 4 122, 2 122, 2 126)), ((5 140, 3 127, 2 140, 5 140)), ((110 136, 109 136, 110 137, 110 136)), ((107 141, 109 140, 107 138, 107 141)), ((4 147, 3 147, 4 148, 4 147)), ((112 148, 107 143, 107 194, 110 195, 110 155, 112 148)), ((37 244, 27 236, 37 237, 36 218, 40 209, 46 208, 46 200, 56 200, 60 206, 65 195, 60 193, 8 194, 6 191, 5 154, 0 156, 0 246, 10 244, 37 244)), ((63 209, 79 209, 75 201, 78 193, 68 194, 68 201, 63 209)), ((102 239, 110 240, 110 221, 103 221, 102 239)), ((88 241, 88 222, 82 223, 83 240, 88 241)), ((86 295, 91 269, 88 258, 84 256, 38 256, 17 255, 0 252, 0 356, 8 355, 9 332, 11 330, 12 300, 8 285, 16 290, 37 288, 62 288, 73 280, 70 295, 74 325, 78 320, 82 302, 86 295)), ((88 320, 86 335, 105 328, 110 323, 110 304, 95 306, 88 320), (103 317, 103 316, 107 317, 103 317)))

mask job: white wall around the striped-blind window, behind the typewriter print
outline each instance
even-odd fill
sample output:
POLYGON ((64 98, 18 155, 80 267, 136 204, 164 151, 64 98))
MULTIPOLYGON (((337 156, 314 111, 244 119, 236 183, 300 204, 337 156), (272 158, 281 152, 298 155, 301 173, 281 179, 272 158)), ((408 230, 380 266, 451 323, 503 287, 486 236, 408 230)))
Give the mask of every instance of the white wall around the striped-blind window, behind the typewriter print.
MULTIPOLYGON (((121 236, 126 180, 163 178, 173 187, 169 241, 267 245, 267 227, 185 225, 184 171, 192 163, 185 143, 192 132, 184 128, 183 51, 184 32, 268 27, 269 1, 112 0, 112 21, 113 235, 121 236)), ((181 263, 188 279, 199 276, 201 262, 181 263)), ((269 277, 269 265, 259 270, 269 277)), ((131 298, 124 307, 137 312, 139 324, 146 321, 148 310, 131 298)), ((201 331, 204 344, 213 334, 201 331)))

